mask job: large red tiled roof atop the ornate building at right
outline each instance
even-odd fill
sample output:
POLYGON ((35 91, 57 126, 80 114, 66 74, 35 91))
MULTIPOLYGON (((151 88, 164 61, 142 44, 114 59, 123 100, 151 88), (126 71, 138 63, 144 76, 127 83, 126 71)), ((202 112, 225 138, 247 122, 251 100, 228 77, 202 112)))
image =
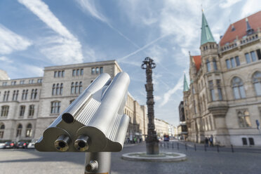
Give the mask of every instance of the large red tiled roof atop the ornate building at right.
MULTIPOLYGON (((261 11, 247 17, 250 27, 256 32, 261 27, 261 11)), ((229 25, 224 36, 220 40, 220 46, 233 42, 235 39, 242 39, 246 36, 247 21, 243 18, 229 25), (232 29, 234 27, 234 29, 232 29), (237 38, 236 38, 237 37, 237 38)))

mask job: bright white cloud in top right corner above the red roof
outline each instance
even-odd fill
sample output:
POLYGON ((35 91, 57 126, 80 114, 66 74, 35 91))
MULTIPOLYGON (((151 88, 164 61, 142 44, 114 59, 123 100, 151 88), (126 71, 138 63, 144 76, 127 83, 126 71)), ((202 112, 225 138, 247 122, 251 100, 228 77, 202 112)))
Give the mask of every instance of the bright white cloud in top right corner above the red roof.
POLYGON ((253 13, 260 11, 261 3, 259 0, 248 0, 241 11, 241 18, 246 18, 248 15, 252 15, 253 13))

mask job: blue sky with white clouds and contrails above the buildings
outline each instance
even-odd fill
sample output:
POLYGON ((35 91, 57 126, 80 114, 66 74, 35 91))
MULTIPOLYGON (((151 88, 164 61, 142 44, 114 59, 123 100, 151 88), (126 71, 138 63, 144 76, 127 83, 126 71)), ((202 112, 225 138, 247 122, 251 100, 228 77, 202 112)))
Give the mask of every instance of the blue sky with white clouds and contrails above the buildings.
MULTIPOLYGON (((183 73, 199 55, 201 7, 215 41, 261 10, 258 0, 1 0, 0 69, 11 79, 42 76, 43 67, 117 60, 130 93, 146 103, 142 60, 154 69, 155 116, 178 125, 183 73)), ((188 77, 188 76, 187 76, 188 77)))

